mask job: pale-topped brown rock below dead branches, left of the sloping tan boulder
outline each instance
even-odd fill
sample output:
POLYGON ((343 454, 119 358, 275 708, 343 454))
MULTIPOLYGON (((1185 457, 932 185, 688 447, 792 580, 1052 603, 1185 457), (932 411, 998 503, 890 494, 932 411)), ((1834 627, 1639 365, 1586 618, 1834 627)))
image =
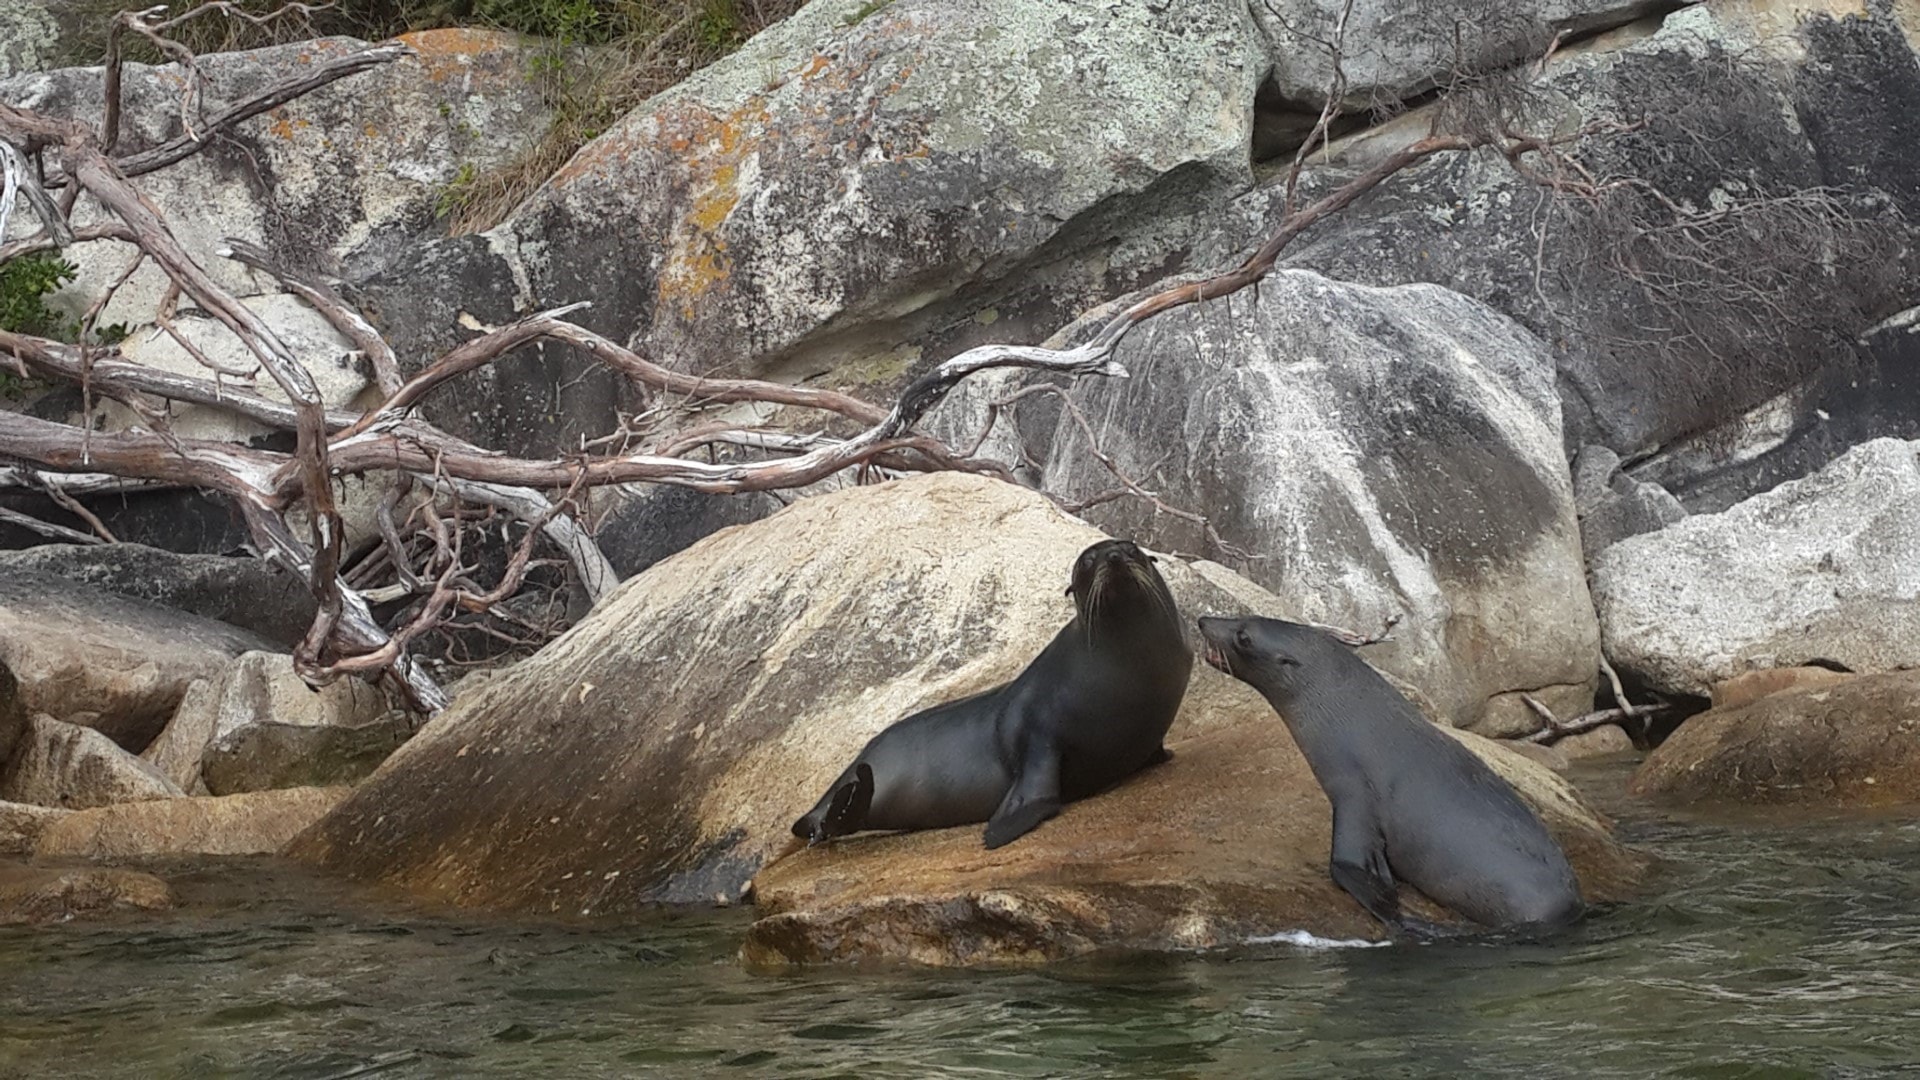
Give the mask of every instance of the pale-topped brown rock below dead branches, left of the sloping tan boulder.
POLYGON ((144 757, 188 792, 230 796, 359 780, 411 732, 382 690, 357 678, 313 690, 292 657, 255 651, 194 682, 144 757))

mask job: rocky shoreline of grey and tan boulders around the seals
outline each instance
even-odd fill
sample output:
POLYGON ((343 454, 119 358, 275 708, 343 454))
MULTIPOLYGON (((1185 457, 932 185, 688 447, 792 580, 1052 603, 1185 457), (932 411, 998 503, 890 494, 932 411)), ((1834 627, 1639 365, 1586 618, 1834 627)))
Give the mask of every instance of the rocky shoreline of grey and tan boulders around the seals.
MULTIPOLYGON (((1446 56, 1356 52, 1348 94, 1398 115, 1356 108, 1294 175, 1286 140, 1317 113, 1298 102, 1327 73, 1288 27, 1323 6, 1292 23, 1200 8, 816 0, 465 236, 436 223, 445 186, 551 121, 520 79, 534 42, 509 35, 407 35, 361 83, 140 183, 182 246, 261 246, 378 327, 397 371, 280 288, 298 273, 209 261, 307 357, 317 409, 374 415, 442 352, 591 300, 570 317, 674 379, 791 390, 697 413, 758 438, 703 446, 720 477, 854 440, 843 421, 973 346, 1085 346, 1450 123, 1446 56), (770 436, 810 392, 858 407, 770 436)), ((1613 125, 1553 160, 1584 177, 1513 167, 1540 148, 1415 160, 1306 225, 1256 288, 1131 329, 1106 357, 1127 379, 998 367, 941 386, 895 454, 975 444, 972 467, 876 457, 781 494, 543 488, 553 513, 493 517, 447 509, 419 471, 342 477, 342 580, 447 684, 432 715, 378 671, 313 678, 321 605, 255 557, 257 507, 154 482, 56 498, 44 461, 23 465, 0 505, 111 542, 0 523, 0 922, 163 911, 142 859, 276 855, 476 911, 747 899, 753 965, 1380 936, 1327 880, 1327 799, 1284 726, 1204 665, 1171 763, 1008 849, 960 828, 789 851, 787 822, 874 732, 1031 659, 1102 536, 1162 553, 1188 625, 1396 621, 1363 655, 1515 784, 1590 901, 1632 897, 1647 865, 1557 774, 1576 755, 1644 757, 1630 792, 1667 805, 1920 805, 1920 138, 1901 138, 1920 21, 1884 0, 1555 12, 1469 44, 1530 73, 1515 117, 1569 138, 1613 125), (1619 202, 1645 190, 1651 209, 1619 202), (1620 221, 1638 248, 1609 246, 1620 221), (1674 284, 1686 259, 1718 277, 1674 284), (515 553, 563 515, 618 584, 586 580, 561 532, 515 553), (538 567, 501 601, 511 619, 409 638, 434 582, 388 563, 440 521, 478 523, 478 553, 438 540, 445 580, 538 567)), ((1356 17, 1392 38, 1382 12, 1356 17)), ((359 48, 209 54, 202 92, 359 48)), ((84 119, 100 77, 0 69, 0 104, 84 119)), ((134 152, 179 135, 177 81, 127 67, 134 152)), ((109 221, 81 206, 75 227, 109 221)), ((0 242, 29 234, 15 219, 0 242)), ((167 277, 115 244, 67 246, 77 275, 48 294, 131 325, 102 371, 252 363, 213 315, 156 315, 167 277)), ((409 417, 480 457, 584 461, 614 427, 616 454, 672 446, 636 434, 664 394, 607 356, 522 344, 409 417)), ((292 425, 261 419, 284 394, 265 398, 173 407, 165 438, 284 452, 292 425)), ((104 440, 156 423, 63 384, 12 407, 104 440)), ((8 438, 0 455, 40 461, 8 438)))

